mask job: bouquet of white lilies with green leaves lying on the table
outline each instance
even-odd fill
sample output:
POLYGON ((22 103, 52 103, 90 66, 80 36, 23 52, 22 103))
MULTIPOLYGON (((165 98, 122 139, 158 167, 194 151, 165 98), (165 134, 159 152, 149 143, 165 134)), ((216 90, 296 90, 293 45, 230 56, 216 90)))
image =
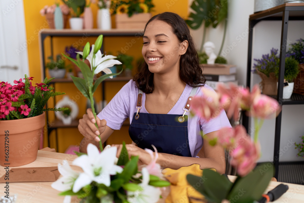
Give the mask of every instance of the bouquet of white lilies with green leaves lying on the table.
MULTIPOLYGON (((152 145, 153 146, 153 145, 152 145)), ((62 175, 51 186, 66 195, 64 203, 71 202, 77 195, 83 203, 155 203, 161 197, 160 187, 170 185, 161 180, 160 165, 156 163, 157 149, 145 149, 151 156, 151 163, 138 171, 138 156, 129 159, 125 143, 117 161, 116 147, 108 145, 102 152, 88 144, 88 154, 78 153, 73 165, 80 166, 83 173, 71 169, 66 160, 58 164, 62 175), (117 161, 117 163, 116 163, 117 161)))

